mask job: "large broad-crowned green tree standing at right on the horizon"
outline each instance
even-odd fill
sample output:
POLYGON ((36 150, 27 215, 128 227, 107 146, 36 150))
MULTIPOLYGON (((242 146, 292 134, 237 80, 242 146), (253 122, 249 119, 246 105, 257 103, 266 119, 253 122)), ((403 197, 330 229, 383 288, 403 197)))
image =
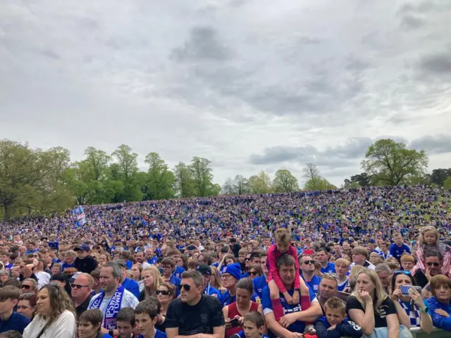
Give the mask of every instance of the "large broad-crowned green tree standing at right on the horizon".
POLYGON ((382 185, 404 184, 409 177, 422 177, 427 166, 428 156, 423 150, 407 149, 406 144, 393 139, 371 144, 362 161, 365 172, 382 185))

